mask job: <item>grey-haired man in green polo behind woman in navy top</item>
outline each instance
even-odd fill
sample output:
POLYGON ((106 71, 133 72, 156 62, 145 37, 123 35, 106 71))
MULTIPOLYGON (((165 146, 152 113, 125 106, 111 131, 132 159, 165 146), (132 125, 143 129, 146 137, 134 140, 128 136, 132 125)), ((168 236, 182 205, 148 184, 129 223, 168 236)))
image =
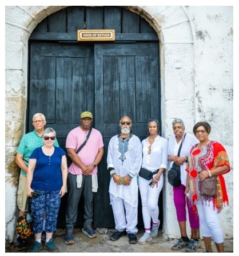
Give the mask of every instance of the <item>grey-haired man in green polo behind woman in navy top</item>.
MULTIPOLYGON (((21 168, 17 192, 17 205, 19 208, 19 216, 22 216, 24 214, 26 207, 26 174, 29 156, 35 148, 41 147, 43 145, 42 138, 45 124, 45 116, 42 113, 35 113, 35 115, 33 116, 33 126, 35 129, 32 132, 26 133, 22 137, 17 149, 15 161, 18 167, 21 168)), ((57 140, 55 140, 54 145, 56 147, 59 147, 57 140)), ((25 239, 21 239, 19 236, 17 237, 17 249, 19 251, 26 249, 25 239)))

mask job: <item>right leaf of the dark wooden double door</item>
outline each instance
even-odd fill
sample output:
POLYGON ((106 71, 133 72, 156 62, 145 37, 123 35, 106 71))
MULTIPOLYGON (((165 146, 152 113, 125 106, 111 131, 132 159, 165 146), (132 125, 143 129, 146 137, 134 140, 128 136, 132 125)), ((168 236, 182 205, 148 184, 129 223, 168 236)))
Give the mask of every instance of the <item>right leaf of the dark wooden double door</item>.
MULTIPOLYGON (((95 127, 101 131, 105 154, 99 166, 99 190, 95 195, 95 225, 114 226, 109 201, 107 147, 119 132, 122 116, 133 122, 133 133, 147 136, 149 119, 160 120, 160 86, 158 79, 158 44, 97 44, 94 46, 95 127)), ((142 223, 139 200, 139 223, 142 223)))

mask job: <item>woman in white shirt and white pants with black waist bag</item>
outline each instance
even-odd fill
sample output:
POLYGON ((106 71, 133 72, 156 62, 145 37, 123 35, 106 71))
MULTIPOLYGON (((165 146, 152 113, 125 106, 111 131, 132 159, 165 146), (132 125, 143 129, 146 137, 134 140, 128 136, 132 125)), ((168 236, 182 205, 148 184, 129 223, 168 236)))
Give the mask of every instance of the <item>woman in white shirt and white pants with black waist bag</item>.
POLYGON ((157 171, 152 180, 146 180, 139 176, 139 188, 142 200, 142 215, 144 219, 145 233, 138 240, 138 243, 144 245, 151 241, 152 237, 157 237, 160 220, 158 215, 158 198, 164 184, 164 175, 162 172, 168 166, 168 141, 159 135, 158 120, 149 120, 149 136, 142 141, 142 168, 148 171, 157 171), (151 184, 150 184, 151 183, 151 184), (152 220, 152 228, 151 228, 152 220))

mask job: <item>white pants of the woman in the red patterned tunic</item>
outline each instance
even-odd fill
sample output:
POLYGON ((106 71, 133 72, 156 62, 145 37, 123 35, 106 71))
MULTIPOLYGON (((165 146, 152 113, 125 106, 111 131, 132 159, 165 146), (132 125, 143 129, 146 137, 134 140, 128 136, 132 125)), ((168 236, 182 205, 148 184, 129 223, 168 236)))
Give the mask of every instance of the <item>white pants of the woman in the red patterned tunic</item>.
POLYGON ((215 243, 223 243, 224 238, 219 222, 218 210, 213 202, 200 200, 196 203, 202 237, 212 237, 215 243))

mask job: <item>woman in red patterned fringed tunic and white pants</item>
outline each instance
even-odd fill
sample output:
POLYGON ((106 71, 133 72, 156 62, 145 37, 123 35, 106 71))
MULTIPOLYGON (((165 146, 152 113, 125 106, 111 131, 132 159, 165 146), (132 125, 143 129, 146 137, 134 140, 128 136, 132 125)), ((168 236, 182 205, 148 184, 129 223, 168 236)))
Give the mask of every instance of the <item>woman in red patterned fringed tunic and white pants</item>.
POLYGON ((218 214, 225 204, 228 204, 225 180, 222 174, 230 171, 228 155, 222 144, 208 138, 210 124, 198 122, 193 127, 194 135, 200 143, 190 150, 188 159, 188 178, 185 194, 198 213, 204 244, 208 253, 212 252, 211 241, 216 244, 218 253, 224 252, 224 237, 220 227, 218 214), (217 176, 217 196, 201 195, 201 181, 217 176))

